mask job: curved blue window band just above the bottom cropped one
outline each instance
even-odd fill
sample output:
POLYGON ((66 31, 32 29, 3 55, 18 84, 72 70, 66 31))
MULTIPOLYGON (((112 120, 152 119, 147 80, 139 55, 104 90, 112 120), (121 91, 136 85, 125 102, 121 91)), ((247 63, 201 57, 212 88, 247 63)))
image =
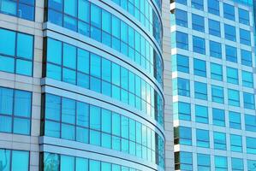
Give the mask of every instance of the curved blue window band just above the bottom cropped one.
POLYGON ((164 139, 150 127, 88 103, 43 95, 42 135, 94 144, 164 168, 164 139))

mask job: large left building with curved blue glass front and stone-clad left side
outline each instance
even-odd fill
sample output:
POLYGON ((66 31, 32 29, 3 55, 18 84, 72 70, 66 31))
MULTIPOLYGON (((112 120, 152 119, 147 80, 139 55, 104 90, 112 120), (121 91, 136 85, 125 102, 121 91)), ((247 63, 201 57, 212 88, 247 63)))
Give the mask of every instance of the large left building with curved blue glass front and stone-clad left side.
POLYGON ((0 170, 164 170, 162 47, 161 0, 0 0, 0 170))

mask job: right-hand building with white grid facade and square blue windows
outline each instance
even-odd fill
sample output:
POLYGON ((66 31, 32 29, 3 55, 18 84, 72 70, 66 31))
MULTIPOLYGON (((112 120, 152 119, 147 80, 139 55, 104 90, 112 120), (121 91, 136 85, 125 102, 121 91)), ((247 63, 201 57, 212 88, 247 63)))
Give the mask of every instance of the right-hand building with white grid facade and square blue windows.
POLYGON ((170 1, 176 170, 256 170, 254 1, 170 1))

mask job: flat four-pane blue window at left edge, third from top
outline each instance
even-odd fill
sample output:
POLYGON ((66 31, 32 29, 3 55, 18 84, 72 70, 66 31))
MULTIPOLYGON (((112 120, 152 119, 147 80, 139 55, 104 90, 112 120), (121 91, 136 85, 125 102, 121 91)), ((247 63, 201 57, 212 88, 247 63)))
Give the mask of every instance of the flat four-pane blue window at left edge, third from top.
POLYGON ((0 132, 30 135, 32 93, 0 87, 0 132))

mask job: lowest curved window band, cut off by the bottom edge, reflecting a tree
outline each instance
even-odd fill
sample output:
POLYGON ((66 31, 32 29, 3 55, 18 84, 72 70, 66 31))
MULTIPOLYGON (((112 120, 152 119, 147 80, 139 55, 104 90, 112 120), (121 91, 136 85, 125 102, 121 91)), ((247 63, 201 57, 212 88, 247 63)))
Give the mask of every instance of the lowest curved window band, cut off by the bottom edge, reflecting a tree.
POLYGON ((54 153, 40 154, 40 170, 48 171, 140 171, 110 162, 54 153))

